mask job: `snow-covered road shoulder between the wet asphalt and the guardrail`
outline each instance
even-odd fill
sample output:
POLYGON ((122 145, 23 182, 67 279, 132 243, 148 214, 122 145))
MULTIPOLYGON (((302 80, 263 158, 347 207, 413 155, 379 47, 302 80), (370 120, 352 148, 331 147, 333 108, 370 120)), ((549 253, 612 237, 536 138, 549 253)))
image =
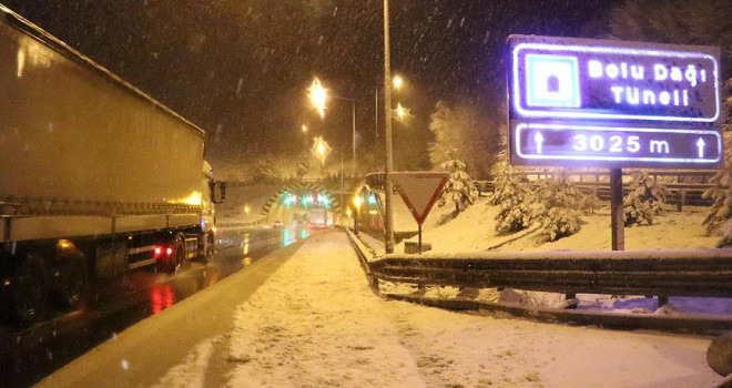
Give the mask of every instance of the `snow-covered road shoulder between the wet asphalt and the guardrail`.
POLYGON ((388 302, 347 237, 318 233, 160 385, 232 387, 712 387, 710 338, 479 317, 388 302), (226 344, 223 354, 213 349, 226 344))

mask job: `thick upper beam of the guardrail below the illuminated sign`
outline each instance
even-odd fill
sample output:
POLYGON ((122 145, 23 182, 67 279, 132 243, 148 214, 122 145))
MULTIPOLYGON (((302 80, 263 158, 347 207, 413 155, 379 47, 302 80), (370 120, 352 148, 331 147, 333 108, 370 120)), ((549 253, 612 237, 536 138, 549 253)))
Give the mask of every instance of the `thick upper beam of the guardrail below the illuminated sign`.
POLYGON ((425 256, 387 255, 369 264, 370 275, 379 280, 423 286, 511 287, 568 295, 732 297, 732 249, 425 256))

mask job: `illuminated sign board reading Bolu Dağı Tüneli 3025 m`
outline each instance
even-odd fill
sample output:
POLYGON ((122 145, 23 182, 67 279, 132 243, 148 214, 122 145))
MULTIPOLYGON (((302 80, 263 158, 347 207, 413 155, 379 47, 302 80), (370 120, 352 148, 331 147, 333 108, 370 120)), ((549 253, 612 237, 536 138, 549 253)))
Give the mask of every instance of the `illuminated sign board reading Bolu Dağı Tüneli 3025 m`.
POLYGON ((509 37, 511 164, 714 169, 719 48, 509 37))

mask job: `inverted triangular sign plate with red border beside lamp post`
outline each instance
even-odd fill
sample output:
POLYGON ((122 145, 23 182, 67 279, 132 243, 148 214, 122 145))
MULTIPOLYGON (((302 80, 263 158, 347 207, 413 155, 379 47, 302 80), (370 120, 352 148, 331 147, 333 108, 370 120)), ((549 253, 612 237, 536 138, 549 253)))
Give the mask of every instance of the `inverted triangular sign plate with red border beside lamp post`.
POLYGON ((404 172, 389 174, 397 192, 409 207, 411 215, 421 225, 435 201, 443 192, 449 173, 404 172))

